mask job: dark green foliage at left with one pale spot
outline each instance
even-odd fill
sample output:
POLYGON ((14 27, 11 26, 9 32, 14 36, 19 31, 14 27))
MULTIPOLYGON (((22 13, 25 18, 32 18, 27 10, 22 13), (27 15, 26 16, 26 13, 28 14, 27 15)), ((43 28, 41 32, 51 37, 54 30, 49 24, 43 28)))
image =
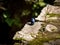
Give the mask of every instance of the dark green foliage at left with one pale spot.
POLYGON ((13 25, 16 25, 17 27, 21 27, 22 24, 21 24, 21 20, 16 17, 16 18, 10 18, 10 13, 9 12, 4 12, 3 13, 3 17, 4 17, 4 20, 5 22, 11 27, 13 25))

